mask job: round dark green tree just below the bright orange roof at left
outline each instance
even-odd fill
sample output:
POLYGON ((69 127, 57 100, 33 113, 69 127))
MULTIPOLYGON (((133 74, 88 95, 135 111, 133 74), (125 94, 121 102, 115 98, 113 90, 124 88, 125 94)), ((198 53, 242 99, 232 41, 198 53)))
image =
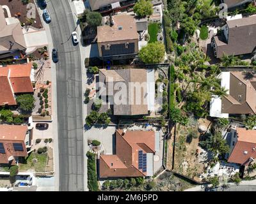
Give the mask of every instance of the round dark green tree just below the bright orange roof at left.
POLYGON ((23 94, 16 98, 22 112, 32 112, 35 107, 35 98, 31 94, 23 94))

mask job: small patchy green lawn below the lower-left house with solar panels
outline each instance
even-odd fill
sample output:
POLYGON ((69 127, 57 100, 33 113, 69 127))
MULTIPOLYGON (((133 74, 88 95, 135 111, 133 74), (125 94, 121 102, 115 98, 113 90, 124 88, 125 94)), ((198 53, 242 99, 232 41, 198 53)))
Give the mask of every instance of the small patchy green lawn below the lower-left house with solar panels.
POLYGON ((26 170, 35 170, 36 172, 44 172, 45 165, 47 160, 47 154, 37 154, 35 152, 31 152, 22 163, 19 163, 19 170, 26 171, 26 170), (33 159, 36 159, 37 162, 33 162, 33 159))

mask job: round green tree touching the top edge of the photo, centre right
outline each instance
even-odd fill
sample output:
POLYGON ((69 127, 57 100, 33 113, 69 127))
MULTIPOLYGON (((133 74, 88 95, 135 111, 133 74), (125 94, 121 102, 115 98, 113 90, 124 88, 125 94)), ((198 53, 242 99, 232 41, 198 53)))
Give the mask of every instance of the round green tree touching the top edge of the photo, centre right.
POLYGON ((134 13, 138 15, 138 17, 147 17, 153 14, 153 4, 150 0, 139 0, 133 6, 134 13))

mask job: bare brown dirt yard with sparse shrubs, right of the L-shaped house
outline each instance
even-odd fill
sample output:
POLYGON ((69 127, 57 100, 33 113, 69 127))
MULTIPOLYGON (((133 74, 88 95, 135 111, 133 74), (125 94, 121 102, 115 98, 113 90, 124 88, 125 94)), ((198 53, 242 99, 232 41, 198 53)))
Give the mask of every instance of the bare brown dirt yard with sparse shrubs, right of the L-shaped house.
MULTIPOLYGON (((173 171, 200 181, 199 175, 204 172, 204 161, 199 157, 203 152, 199 146, 200 133, 198 126, 209 128, 211 122, 207 119, 189 118, 188 126, 176 126, 175 156, 173 171)), ((174 129, 174 128, 173 128, 174 129)), ((173 132, 173 130, 172 130, 173 132)), ((172 170, 173 136, 168 142, 167 168, 172 170)))

